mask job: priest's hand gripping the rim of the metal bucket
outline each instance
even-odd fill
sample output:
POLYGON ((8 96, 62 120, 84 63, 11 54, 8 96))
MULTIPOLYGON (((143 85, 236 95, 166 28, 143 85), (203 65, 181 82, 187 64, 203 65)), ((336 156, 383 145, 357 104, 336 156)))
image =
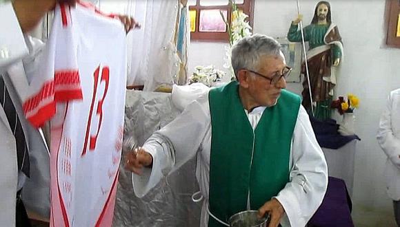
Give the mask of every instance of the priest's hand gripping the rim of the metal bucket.
POLYGON ((285 209, 278 201, 278 199, 272 198, 270 201, 266 202, 261 208, 259 208, 259 217, 264 217, 266 214, 270 214, 270 221, 268 227, 277 227, 281 218, 285 213, 285 209))

